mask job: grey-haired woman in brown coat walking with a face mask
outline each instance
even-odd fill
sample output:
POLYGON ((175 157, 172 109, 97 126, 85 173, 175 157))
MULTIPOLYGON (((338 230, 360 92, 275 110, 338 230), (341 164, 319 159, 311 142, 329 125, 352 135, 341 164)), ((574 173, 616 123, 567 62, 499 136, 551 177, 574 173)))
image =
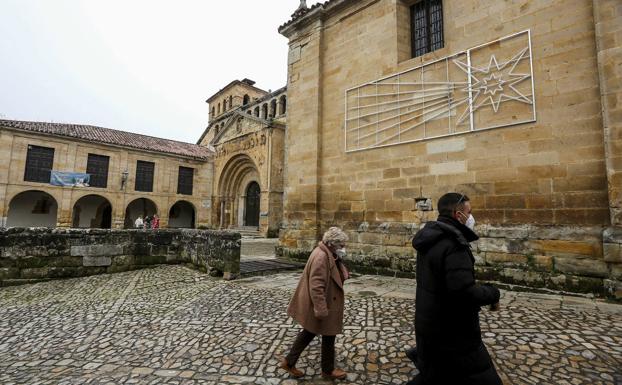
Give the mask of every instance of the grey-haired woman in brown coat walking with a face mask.
POLYGON ((296 362, 316 335, 322 336, 322 377, 344 379, 346 372, 335 368, 335 337, 343 330, 344 281, 349 272, 343 263, 348 236, 338 227, 324 233, 322 241, 311 252, 298 287, 287 308, 287 314, 302 330, 289 354, 279 358, 279 367, 293 377, 304 373, 296 362))

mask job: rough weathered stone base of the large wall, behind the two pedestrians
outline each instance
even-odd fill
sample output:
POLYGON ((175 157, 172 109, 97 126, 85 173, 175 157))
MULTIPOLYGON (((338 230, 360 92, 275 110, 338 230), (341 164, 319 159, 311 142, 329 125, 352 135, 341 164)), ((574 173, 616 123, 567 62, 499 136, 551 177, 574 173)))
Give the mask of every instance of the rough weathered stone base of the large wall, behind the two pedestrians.
MULTIPOLYGON (((348 262, 355 272, 415 278, 412 237, 417 224, 362 223, 345 227, 348 262)), ((622 298, 622 228, 492 226, 476 228, 472 244, 478 278, 622 298)), ((281 244, 278 255, 305 261, 304 249, 281 244)))

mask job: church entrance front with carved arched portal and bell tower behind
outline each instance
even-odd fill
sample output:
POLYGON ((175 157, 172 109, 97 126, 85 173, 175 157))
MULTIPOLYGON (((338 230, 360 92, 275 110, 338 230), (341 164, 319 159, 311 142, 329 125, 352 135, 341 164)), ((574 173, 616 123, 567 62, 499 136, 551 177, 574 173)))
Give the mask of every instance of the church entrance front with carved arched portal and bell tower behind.
POLYGON ((253 84, 233 81, 207 100, 210 122, 198 143, 214 150, 214 226, 258 228, 263 236, 277 237, 287 95, 285 88, 266 92, 253 84))

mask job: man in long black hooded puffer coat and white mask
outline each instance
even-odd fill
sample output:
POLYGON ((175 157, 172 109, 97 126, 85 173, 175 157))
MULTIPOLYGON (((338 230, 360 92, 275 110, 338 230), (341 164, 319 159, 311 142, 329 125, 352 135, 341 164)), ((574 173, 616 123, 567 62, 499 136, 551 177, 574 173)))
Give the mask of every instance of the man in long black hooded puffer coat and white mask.
POLYGON ((499 290, 475 283, 469 198, 448 193, 438 201, 437 221, 413 238, 417 250, 415 334, 420 373, 409 385, 500 385, 482 342, 481 306, 499 308, 499 290))

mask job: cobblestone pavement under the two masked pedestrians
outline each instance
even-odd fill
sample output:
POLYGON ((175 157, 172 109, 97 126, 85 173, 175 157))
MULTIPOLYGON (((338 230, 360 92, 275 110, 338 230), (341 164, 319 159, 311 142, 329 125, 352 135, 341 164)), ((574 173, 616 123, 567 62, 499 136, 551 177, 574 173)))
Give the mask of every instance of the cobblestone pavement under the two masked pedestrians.
MULTIPOLYGON (((299 273, 235 282, 181 266, 0 289, 1 384, 323 384, 319 344, 300 381, 276 369, 298 327, 285 308, 299 273)), ((346 285, 338 365, 347 384, 401 384, 415 369, 414 281, 346 285)), ((504 292, 483 311, 506 384, 622 384, 622 306, 504 292)))

